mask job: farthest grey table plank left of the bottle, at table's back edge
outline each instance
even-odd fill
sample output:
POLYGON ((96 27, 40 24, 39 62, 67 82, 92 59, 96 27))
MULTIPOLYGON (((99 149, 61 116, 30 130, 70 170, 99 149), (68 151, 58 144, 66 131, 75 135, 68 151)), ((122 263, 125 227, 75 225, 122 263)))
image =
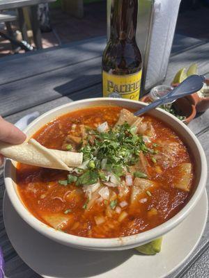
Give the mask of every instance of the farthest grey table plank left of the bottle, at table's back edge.
POLYGON ((106 38, 100 37, 67 44, 65 47, 53 47, 29 54, 1 58, 0 85, 99 57, 102 55, 105 44, 106 38))

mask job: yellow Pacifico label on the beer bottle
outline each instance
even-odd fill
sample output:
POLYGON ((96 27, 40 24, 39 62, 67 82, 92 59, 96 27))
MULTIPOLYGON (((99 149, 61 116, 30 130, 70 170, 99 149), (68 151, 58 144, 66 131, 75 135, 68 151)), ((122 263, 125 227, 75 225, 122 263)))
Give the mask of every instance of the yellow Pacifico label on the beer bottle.
POLYGON ((115 75, 102 71, 103 97, 111 97, 113 93, 124 99, 139 100, 141 70, 136 74, 115 75))

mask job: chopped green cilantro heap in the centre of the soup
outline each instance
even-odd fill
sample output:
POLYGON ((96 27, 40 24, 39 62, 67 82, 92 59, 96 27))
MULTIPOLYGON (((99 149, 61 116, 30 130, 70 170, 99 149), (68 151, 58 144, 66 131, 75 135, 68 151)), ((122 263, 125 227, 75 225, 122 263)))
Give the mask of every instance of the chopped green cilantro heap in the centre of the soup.
POLYGON ((127 123, 104 133, 95 130, 94 144, 88 142, 80 149, 80 152, 84 154, 84 161, 94 158, 94 165, 100 170, 102 160, 106 158, 105 170, 110 170, 116 176, 121 177, 125 166, 137 163, 139 152, 148 152, 142 136, 135 132, 136 129, 127 123))

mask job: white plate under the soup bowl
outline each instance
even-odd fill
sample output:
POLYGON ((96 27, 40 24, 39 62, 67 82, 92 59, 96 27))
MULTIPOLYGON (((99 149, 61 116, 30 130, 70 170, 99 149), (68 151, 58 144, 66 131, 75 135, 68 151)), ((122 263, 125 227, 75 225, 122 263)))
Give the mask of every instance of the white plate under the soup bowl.
POLYGON ((162 252, 144 256, 135 250, 93 252, 49 240, 32 229, 3 199, 3 219, 13 247, 22 260, 45 278, 162 278, 176 270, 199 243, 206 226, 206 190, 189 216, 165 235, 162 252), (191 233, 192 231, 192 233, 191 233))

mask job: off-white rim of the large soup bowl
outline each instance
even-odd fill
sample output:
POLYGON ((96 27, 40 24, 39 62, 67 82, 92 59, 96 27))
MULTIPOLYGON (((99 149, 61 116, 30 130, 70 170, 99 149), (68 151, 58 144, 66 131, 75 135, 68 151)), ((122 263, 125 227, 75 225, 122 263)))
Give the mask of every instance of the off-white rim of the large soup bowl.
MULTIPOLYGON (((147 104, 144 104, 144 102, 141 101, 132 101, 130 99, 116 99, 116 98, 109 98, 109 97, 100 97, 100 98, 93 98, 93 99, 82 99, 79 101, 72 101, 68 104, 63 104, 62 106, 57 106, 56 108, 53 108, 46 113, 40 115, 36 120, 31 122, 29 126, 24 129, 24 132, 28 132, 34 125, 36 125, 40 120, 45 118, 47 115, 51 115, 55 113, 56 111, 59 111, 63 108, 66 108, 68 106, 75 106, 75 104, 85 104, 85 102, 91 102, 92 104, 98 102, 98 101, 109 101, 109 103, 112 105, 114 104, 114 101, 120 101, 121 106, 125 103, 135 103, 139 104, 141 106, 146 106, 147 104)), ((96 104, 99 106, 100 104, 96 104)), ((96 106, 95 105, 95 106, 96 106)), ((107 104, 104 104, 107 105, 107 104)), ((115 104, 118 105, 118 104, 115 104)), ((86 107, 89 107, 91 105, 87 105, 86 107)), ((102 105, 101 105, 102 106, 102 105)), ((125 105, 124 105, 125 106, 125 105)), ((84 108, 84 107, 82 107, 84 108)), ((79 108, 76 108, 75 110, 79 110, 79 108)), ((73 109, 72 109, 73 111, 73 109)), ((4 181, 6 185, 6 191, 8 193, 8 197, 10 198, 15 210, 20 215, 20 217, 28 223, 33 229, 36 229, 40 232, 40 234, 43 234, 44 236, 47 236, 48 238, 51 238, 52 240, 55 240, 56 242, 62 243, 64 245, 70 245, 72 247, 77 247, 81 249, 92 249, 92 250, 119 250, 119 247, 126 247, 126 248, 132 248, 136 247, 137 245, 148 243, 150 240, 153 240, 155 238, 158 238, 164 234, 167 234, 168 231, 176 227, 180 222, 182 222, 185 217, 189 214, 190 211, 192 211, 192 208, 196 205, 198 200, 201 197, 201 194, 203 193, 203 190, 206 186, 207 181, 207 161, 206 161, 206 155, 203 151, 203 147, 201 146, 199 140, 196 138, 194 133, 185 125, 183 122, 180 122, 178 118, 171 115, 170 113, 167 113, 167 111, 164 111, 160 108, 157 108, 157 111, 160 111, 161 113, 167 115, 167 117, 172 118, 174 121, 176 121, 180 126, 185 129, 187 133, 189 133, 189 136, 192 137, 193 142, 195 143, 199 156, 201 159, 201 177, 199 179, 198 186, 196 187, 196 190, 194 191, 194 194, 189 199, 189 202, 171 219, 167 220, 167 222, 164 222, 160 224, 159 226, 150 229, 148 231, 141 232, 139 234, 135 234, 132 236, 125 236, 125 237, 118 237, 118 238, 84 238, 82 236, 75 236, 72 234, 65 234, 62 231, 58 231, 52 227, 49 227, 47 224, 41 222, 38 220, 32 213, 30 213, 26 207, 22 204, 22 201, 20 197, 17 195, 15 186, 13 185, 12 180, 12 161, 9 159, 6 159, 5 163, 5 170, 4 170, 4 181)), ((70 113, 70 111, 69 111, 70 113)), ((54 116, 54 119, 56 117, 60 117, 61 115, 64 115, 65 113, 59 113, 59 115, 54 116)), ((38 131, 38 129, 37 129, 38 131)), ((34 131, 35 132, 35 131, 34 131)))

